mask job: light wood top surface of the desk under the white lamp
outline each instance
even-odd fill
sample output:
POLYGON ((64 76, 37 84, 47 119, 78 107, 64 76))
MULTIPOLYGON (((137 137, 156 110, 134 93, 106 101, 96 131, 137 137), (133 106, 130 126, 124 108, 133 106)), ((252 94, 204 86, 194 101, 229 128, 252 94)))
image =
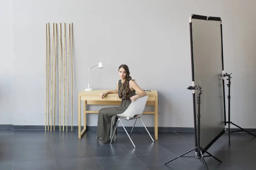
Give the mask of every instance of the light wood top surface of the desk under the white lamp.
MULTIPOLYGON (((95 89, 93 91, 83 90, 79 93, 79 96, 99 96, 101 93, 103 93, 105 91, 111 91, 111 90, 102 90, 102 89, 95 89)), ((136 94, 138 94, 137 91, 136 91, 136 94)), ((146 94, 148 96, 158 96, 156 90, 151 90, 150 92, 146 92, 146 94)), ((107 96, 118 96, 118 94, 107 94, 107 96)))

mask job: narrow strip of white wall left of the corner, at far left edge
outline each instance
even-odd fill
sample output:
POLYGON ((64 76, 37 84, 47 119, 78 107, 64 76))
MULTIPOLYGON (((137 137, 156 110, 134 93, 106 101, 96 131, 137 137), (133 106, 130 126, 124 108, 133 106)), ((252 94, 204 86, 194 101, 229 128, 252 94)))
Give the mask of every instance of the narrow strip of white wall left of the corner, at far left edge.
POLYGON ((13 13, 12 0, 0 0, 0 124, 13 124, 16 102, 14 89, 14 54, 13 54, 13 13))

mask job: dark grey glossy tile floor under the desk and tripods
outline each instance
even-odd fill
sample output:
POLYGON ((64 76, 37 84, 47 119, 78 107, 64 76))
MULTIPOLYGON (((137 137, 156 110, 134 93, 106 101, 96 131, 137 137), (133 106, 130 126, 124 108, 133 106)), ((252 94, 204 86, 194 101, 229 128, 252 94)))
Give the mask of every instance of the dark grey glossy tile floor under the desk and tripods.
MULTIPOLYGON (((77 131, 0 130, 0 170, 205 170, 195 158, 164 164, 194 147, 194 133, 158 136, 153 143, 146 132, 136 131, 134 148, 125 132, 118 132, 113 144, 102 144, 95 131, 78 139, 77 131)), ((208 151, 222 161, 207 157, 209 170, 256 169, 256 138, 248 133, 232 133, 230 146, 225 133, 208 151)))

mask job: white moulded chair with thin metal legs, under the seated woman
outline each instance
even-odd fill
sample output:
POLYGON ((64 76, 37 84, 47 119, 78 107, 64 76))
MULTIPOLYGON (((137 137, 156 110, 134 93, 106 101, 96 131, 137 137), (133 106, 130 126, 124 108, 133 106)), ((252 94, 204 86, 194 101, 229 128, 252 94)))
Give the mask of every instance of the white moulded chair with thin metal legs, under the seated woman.
MULTIPOLYGON (((145 105, 146 105, 147 100, 148 100, 148 95, 144 96, 144 97, 140 97, 137 100, 135 100, 134 102, 131 102, 131 104, 128 106, 128 108, 126 109, 126 111, 124 113, 117 114, 116 116, 118 117, 118 120, 117 120, 116 128, 117 128, 119 122, 122 124, 121 119, 125 119, 125 120, 136 119, 135 122, 134 122, 134 126, 135 126, 135 123, 136 123, 138 118, 142 122, 141 115, 142 115, 142 113, 143 113, 143 111, 145 109, 145 105)), ((145 127, 143 122, 142 122, 142 124, 145 127)), ((131 129, 131 133, 132 133, 132 130, 134 129, 134 126, 131 129)), ((123 124, 122 124, 122 127, 124 127, 123 124)), ((116 132, 116 128, 115 128, 115 131, 113 133, 113 136, 114 136, 114 134, 116 132)), ((125 129, 125 127, 124 127, 124 129, 125 129)), ((147 130, 146 127, 145 127, 145 129, 147 130)), ((127 133, 126 129, 125 129, 125 132, 127 133)), ((148 130, 147 130, 147 132, 148 132, 148 130)), ((127 135, 128 135, 130 140, 131 140, 131 137, 130 137, 131 133, 130 133, 130 135, 127 133, 127 135)), ((151 137, 149 132, 148 132, 148 134, 151 137)), ((112 143, 113 136, 111 138, 111 142, 110 143, 112 143)), ((151 139, 154 142, 152 137, 151 137, 151 139)), ((131 140, 131 143, 134 145, 134 142, 132 142, 132 140, 131 140)), ((135 145, 134 145, 134 147, 135 147, 135 145)))

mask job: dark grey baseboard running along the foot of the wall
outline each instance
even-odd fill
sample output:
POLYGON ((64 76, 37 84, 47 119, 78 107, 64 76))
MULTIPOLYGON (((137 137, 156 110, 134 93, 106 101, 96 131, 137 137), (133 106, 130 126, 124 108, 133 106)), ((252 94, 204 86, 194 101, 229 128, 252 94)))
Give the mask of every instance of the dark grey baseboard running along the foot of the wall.
MULTIPOLYGON (((49 126, 49 130, 50 130, 49 126)), ((82 126, 81 129, 84 127, 82 126)), ((125 127, 126 130, 131 131, 132 127, 125 127)), ((0 125, 0 129, 16 129, 16 130, 44 130, 44 125, 0 125)), ((46 127, 48 130, 48 126, 46 127)), ((52 130, 54 127, 52 126, 52 130)), ((61 126, 61 130, 63 126, 61 126)), ((65 126, 64 129, 71 130, 71 126, 65 126)), ((154 132, 154 127, 147 127, 148 131, 154 132)), ((55 130, 60 130, 59 125, 55 125, 55 130)), ((73 126, 73 130, 78 130, 78 126, 73 126)), ((97 126, 87 126, 87 130, 97 130, 97 126)), ((231 131, 240 130, 238 128, 231 128, 231 131)), ((245 128, 245 130, 256 133, 255 128, 245 128)), ((124 131, 123 127, 117 127, 117 131, 124 131)), ((134 131, 146 131, 144 127, 134 127, 134 131)), ((194 127, 158 127, 158 132, 194 132, 194 127)), ((227 130, 226 130, 227 132, 227 130)), ((246 133, 245 131, 241 131, 246 133)))

